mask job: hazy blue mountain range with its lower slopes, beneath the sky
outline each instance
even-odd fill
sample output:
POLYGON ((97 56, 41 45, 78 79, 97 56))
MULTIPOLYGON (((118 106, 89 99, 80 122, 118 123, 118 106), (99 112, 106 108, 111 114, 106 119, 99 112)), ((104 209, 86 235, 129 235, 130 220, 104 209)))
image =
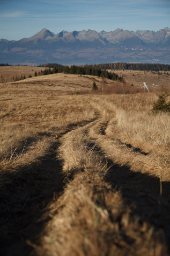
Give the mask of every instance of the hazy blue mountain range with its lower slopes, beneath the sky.
POLYGON ((170 29, 97 32, 42 29, 21 40, 0 39, 0 63, 95 64, 137 62, 170 64, 170 29))

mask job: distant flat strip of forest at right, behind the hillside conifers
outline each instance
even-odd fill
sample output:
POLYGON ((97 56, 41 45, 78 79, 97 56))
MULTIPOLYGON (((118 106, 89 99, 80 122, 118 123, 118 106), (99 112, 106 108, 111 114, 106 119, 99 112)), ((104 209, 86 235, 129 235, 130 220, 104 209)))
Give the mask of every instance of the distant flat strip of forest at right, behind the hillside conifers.
POLYGON ((90 66, 95 68, 101 68, 102 70, 170 71, 170 65, 168 64, 104 63, 94 64, 90 66))

